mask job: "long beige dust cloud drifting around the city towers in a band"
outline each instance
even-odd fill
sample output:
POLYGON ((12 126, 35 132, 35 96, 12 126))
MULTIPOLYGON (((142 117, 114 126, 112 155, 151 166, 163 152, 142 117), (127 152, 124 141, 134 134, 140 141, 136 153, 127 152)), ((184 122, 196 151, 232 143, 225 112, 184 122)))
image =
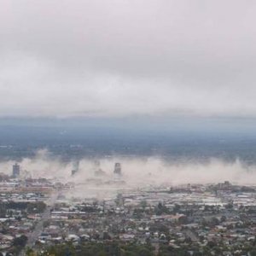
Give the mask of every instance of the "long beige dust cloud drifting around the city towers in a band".
MULTIPOLYGON (((101 159, 86 158, 65 162, 49 154, 47 149, 38 150, 33 158, 24 158, 19 164, 23 177, 55 178, 61 182, 86 183, 102 181, 110 184, 117 177, 113 166, 121 163, 119 181, 123 186, 140 187, 146 185, 175 185, 184 183, 231 183, 253 184, 256 180, 256 166, 247 166, 239 159, 233 162, 211 159, 206 163, 172 162, 158 156, 124 157, 112 156, 101 159), (74 167, 75 166, 75 167, 74 167), (77 172, 72 175, 72 170, 77 172), (97 172, 101 170, 100 172, 97 172)), ((0 172, 11 175, 14 160, 0 162, 0 172)))

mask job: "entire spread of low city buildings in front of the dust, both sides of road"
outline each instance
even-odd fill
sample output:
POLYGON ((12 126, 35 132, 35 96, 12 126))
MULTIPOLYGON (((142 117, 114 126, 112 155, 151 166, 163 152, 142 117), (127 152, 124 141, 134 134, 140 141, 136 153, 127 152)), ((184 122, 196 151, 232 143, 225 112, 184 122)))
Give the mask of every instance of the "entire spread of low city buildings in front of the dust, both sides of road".
MULTIPOLYGON (((74 166, 79 170, 79 166, 74 166)), ((96 172, 99 172, 98 168, 96 172)), ((121 165, 113 173, 121 175, 121 165)), ((256 187, 185 184, 95 188, 0 174, 0 252, 86 243, 149 245, 154 255, 254 255, 256 187), (104 196, 94 193, 101 189, 104 196), (89 191, 92 193, 89 193, 89 191), (23 247, 25 245, 23 244, 23 247), (186 254, 187 253, 187 254, 186 254)), ((38 254, 39 255, 39 254, 38 254)))

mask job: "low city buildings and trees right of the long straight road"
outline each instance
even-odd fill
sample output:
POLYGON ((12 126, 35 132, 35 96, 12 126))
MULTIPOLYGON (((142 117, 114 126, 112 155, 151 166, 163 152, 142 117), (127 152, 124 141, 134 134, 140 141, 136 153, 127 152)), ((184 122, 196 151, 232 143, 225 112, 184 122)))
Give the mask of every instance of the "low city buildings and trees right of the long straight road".
POLYGON ((119 241, 149 243, 155 255, 251 255, 255 232, 255 188, 188 184, 114 191, 104 200, 60 194, 35 248, 119 241))

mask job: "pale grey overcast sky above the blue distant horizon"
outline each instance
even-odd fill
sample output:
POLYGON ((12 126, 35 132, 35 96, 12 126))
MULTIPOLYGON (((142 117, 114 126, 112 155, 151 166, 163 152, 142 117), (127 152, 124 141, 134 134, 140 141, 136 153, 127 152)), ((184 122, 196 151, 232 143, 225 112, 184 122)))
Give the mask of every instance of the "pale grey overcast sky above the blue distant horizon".
POLYGON ((256 2, 1 0, 0 116, 256 116, 256 2))

